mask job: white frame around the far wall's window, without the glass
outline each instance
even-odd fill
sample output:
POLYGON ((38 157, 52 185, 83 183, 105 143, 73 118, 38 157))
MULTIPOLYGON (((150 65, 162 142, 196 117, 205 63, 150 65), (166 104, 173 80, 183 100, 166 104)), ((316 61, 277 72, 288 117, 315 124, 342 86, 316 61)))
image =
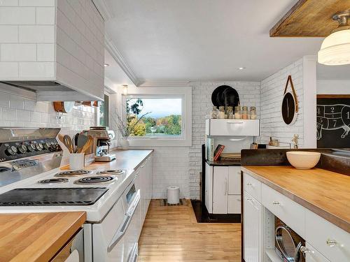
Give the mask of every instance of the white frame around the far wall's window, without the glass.
POLYGON ((191 87, 129 87, 128 94, 118 92, 120 111, 126 121, 127 98, 181 99, 181 136, 130 136, 130 146, 191 146, 192 145, 192 88, 191 87))

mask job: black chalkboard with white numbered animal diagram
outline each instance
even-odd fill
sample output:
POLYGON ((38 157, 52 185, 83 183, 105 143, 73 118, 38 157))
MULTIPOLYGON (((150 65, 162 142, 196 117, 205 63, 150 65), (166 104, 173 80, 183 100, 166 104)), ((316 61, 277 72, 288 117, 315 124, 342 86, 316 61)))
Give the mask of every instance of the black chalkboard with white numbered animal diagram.
POLYGON ((350 96, 318 95, 316 116, 318 148, 350 147, 350 96))

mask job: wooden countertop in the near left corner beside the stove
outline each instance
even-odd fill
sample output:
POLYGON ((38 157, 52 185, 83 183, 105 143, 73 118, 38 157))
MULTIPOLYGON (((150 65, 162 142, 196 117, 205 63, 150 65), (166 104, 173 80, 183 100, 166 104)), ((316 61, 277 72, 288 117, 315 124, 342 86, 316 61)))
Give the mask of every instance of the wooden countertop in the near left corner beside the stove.
POLYGON ((85 212, 0 214, 0 261, 49 261, 85 219, 85 212))

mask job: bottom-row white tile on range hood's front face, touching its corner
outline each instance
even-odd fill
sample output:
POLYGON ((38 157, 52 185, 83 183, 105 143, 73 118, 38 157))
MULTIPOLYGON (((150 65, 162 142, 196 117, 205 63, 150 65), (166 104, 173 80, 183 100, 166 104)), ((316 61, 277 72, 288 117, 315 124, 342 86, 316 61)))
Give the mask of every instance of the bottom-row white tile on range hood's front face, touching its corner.
POLYGON ((54 62, 20 62, 20 78, 35 79, 54 78, 54 62))

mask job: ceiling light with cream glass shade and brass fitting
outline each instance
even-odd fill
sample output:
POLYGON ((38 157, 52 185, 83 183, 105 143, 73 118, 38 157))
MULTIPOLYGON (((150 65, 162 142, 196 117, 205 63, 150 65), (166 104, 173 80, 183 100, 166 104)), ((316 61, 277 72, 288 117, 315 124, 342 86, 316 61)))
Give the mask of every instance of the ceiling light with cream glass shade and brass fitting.
POLYGON ((332 34, 327 36, 318 51, 318 63, 327 66, 350 64, 350 10, 336 13, 333 20, 339 22, 332 34))

